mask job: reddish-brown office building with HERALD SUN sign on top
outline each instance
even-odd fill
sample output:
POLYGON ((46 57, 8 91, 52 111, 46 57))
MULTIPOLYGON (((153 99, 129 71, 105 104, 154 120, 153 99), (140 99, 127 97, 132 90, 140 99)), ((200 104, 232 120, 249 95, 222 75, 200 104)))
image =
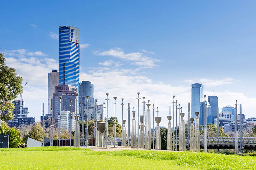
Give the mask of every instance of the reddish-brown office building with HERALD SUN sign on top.
MULTIPOLYGON (((53 93, 53 119, 55 122, 58 122, 58 115, 61 111, 68 110, 70 111, 70 100, 72 100, 71 103, 71 112, 76 113, 76 93, 77 88, 72 85, 58 85, 54 87, 54 93, 53 93), (59 96, 62 96, 61 99, 61 106, 60 106, 60 99, 59 96), (61 108, 60 108, 61 107, 61 108)), ((79 107, 79 99, 77 98, 77 105, 79 107)))

